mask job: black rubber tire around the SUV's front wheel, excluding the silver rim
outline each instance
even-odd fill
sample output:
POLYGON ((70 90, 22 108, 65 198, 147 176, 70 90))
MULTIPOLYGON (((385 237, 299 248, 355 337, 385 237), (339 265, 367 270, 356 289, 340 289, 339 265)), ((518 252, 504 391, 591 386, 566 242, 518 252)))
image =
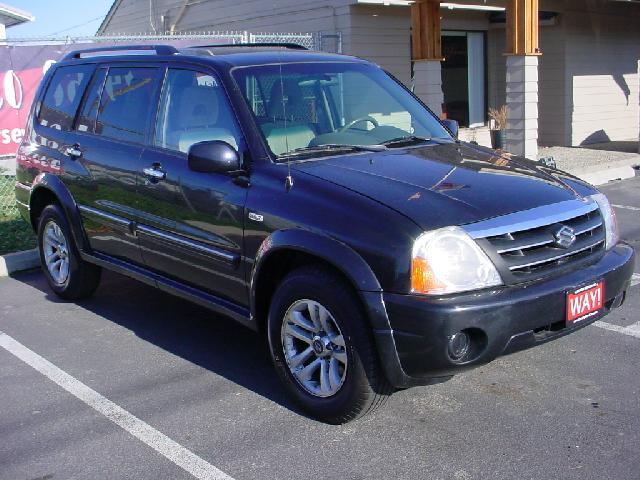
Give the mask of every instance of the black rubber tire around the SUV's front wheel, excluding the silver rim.
POLYGON ((392 391, 380 368, 371 327, 356 293, 340 276, 323 266, 301 267, 278 286, 269 309, 268 342, 276 371, 291 398, 321 421, 342 424, 355 420, 380 407, 392 391), (309 393, 294 377, 285 358, 282 324, 289 308, 302 299, 324 306, 344 337, 348 367, 344 383, 329 397, 309 393))

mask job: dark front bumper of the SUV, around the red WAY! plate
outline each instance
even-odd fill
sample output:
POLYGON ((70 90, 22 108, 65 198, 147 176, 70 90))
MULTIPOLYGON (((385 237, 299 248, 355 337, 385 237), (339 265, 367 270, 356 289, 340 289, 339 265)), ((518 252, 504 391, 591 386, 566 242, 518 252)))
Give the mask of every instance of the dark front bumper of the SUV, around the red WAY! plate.
POLYGON ((379 328, 382 322, 374 328, 389 381, 398 388, 443 381, 593 323, 622 304, 634 256, 633 248, 619 244, 594 265, 533 284, 440 298, 382 294, 389 328, 379 328), (605 307, 567 326, 567 292, 597 280, 605 282, 605 307), (477 334, 478 343, 468 360, 456 363, 447 347, 449 337, 461 330, 477 334))

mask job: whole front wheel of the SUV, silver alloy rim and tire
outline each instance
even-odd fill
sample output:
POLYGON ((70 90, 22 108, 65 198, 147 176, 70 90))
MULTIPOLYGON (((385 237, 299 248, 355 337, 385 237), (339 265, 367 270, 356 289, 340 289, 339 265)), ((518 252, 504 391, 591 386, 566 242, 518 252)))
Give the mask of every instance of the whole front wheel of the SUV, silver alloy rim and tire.
POLYGON ((271 356, 290 396, 311 416, 340 424, 372 412, 390 393, 353 289, 320 266, 278 287, 269 310, 271 356))

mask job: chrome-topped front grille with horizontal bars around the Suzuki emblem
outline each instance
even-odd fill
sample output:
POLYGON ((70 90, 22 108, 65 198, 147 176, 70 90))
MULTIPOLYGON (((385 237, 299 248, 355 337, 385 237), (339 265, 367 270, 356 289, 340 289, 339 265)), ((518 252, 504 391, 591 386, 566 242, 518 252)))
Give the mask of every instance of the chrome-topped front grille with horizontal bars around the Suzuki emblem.
POLYGON ((595 202, 575 200, 539 207, 479 222, 467 231, 494 259, 505 281, 551 274, 595 258, 605 249, 604 222, 595 202), (555 238, 562 226, 573 229, 575 235, 567 248, 555 238))

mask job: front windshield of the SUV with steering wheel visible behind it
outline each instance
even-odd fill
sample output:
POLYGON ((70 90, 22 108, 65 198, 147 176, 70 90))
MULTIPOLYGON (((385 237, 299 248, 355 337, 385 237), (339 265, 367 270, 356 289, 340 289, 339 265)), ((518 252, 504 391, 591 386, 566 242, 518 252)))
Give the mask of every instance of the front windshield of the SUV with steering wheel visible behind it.
POLYGON ((278 157, 451 140, 428 110, 372 65, 262 65, 238 68, 234 78, 278 157))

